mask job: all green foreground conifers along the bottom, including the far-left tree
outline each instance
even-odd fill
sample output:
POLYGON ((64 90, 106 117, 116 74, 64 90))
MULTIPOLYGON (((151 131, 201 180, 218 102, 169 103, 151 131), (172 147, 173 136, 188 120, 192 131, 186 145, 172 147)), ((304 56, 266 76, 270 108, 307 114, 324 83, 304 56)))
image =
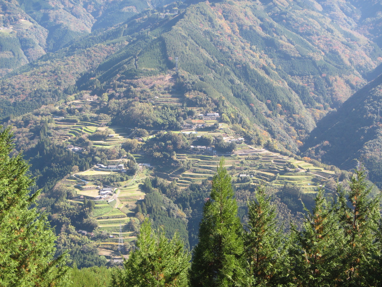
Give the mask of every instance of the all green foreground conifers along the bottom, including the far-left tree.
MULTIPOLYGON (((44 211, 34 207, 34 179, 22 155, 9 156, 10 129, 0 133, 0 285, 65 286, 71 264, 55 257, 52 231, 44 211)), ((136 248, 123 269, 110 271, 114 286, 378 286, 381 278, 380 195, 370 197, 361 166, 348 190, 334 197, 319 189, 312 210, 305 207, 302 230, 286 233, 275 206, 257 188, 249 198, 243 225, 221 159, 191 253, 178 233, 166 237, 144 219, 136 248), (191 261, 190 261, 191 259, 191 261)), ((150 188, 151 183, 145 183, 150 188)), ((157 191, 152 191, 157 192, 157 191)), ((154 197, 153 197, 154 198, 154 197)), ((157 201, 160 203, 160 201, 157 201)), ((155 208, 154 201, 150 208, 155 208)), ((142 206, 143 207, 143 206, 142 206)), ((148 208, 148 207, 146 207, 148 208)), ((82 276, 82 275, 81 275, 82 276)))

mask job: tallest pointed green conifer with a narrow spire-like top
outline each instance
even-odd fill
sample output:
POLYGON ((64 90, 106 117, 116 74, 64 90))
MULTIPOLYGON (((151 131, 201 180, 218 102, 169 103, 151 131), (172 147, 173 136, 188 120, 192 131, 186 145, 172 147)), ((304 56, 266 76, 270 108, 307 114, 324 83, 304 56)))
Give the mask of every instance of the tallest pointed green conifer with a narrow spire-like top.
POLYGON ((190 271, 193 287, 239 286, 243 280, 242 225, 224 162, 222 157, 212 178, 210 199, 203 207, 190 271))

